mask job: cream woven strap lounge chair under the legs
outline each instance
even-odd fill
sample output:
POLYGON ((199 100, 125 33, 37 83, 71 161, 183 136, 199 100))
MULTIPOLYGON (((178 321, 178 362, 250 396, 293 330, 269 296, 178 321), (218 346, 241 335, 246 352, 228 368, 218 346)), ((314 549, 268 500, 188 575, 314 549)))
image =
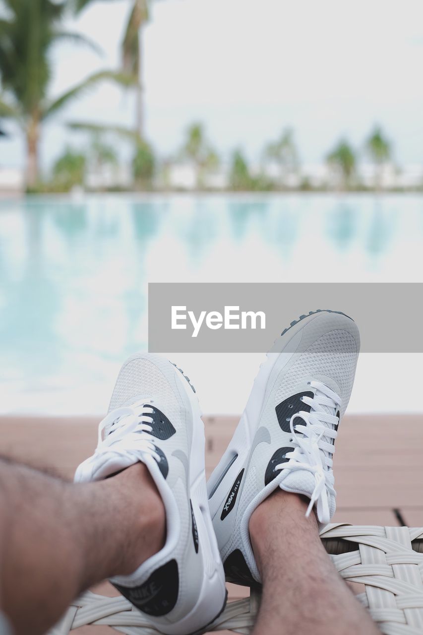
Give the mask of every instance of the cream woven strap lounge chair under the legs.
MULTIPOLYGON (((340 575, 361 583, 357 597, 386 635, 423 633, 423 528, 328 525, 321 539, 340 575)), ((229 602, 208 631, 248 634, 260 594, 229 602)), ((104 624, 126 635, 158 631, 123 597, 105 598, 90 591, 70 606, 50 635, 67 635, 87 624, 104 624)))

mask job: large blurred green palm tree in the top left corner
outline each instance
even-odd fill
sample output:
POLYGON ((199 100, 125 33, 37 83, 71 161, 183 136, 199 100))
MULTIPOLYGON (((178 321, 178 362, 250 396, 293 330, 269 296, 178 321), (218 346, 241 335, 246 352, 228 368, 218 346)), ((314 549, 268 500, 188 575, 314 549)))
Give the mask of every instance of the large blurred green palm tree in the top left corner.
POLYGON ((27 186, 39 179, 39 140, 42 126, 51 116, 104 79, 133 84, 123 72, 102 70, 66 91, 48 98, 51 50, 64 39, 89 44, 85 37, 65 32, 60 24, 69 0, 0 0, 5 17, 0 19, 0 116, 14 119, 27 144, 27 186))

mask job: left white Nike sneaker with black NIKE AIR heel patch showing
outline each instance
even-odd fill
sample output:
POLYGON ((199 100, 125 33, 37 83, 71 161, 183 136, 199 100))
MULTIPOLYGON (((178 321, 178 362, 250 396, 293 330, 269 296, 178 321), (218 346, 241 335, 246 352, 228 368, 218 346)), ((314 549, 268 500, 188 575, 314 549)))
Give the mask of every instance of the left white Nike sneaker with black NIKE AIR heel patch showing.
POLYGON ((75 481, 98 481, 141 461, 166 510, 166 544, 112 584, 160 632, 203 631, 222 612, 225 578, 207 504, 205 436, 189 379, 166 359, 140 354, 124 363, 97 450, 75 481))

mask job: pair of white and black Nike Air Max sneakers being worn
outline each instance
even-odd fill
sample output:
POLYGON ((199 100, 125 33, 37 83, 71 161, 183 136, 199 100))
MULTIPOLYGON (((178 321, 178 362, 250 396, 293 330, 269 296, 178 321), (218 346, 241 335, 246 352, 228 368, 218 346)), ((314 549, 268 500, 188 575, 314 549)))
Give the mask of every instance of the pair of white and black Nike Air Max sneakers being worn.
POLYGON ((128 359, 98 446, 75 480, 143 462, 163 498, 166 543, 131 575, 111 580, 159 631, 203 632, 224 610, 225 578, 260 583, 248 523, 276 488, 310 499, 325 526, 335 512, 332 455, 351 394, 358 328, 340 312, 301 316, 260 367, 224 456, 205 479, 205 435, 194 388, 158 355, 128 359))

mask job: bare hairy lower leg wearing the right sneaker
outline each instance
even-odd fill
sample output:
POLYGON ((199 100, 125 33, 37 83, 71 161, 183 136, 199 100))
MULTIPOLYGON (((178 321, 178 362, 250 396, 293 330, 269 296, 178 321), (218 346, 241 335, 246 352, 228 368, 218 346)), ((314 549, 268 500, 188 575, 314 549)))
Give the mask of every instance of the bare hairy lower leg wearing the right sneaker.
POLYGON ((255 635, 380 635, 321 544, 307 502, 278 490, 258 505, 250 536, 262 575, 255 635))

